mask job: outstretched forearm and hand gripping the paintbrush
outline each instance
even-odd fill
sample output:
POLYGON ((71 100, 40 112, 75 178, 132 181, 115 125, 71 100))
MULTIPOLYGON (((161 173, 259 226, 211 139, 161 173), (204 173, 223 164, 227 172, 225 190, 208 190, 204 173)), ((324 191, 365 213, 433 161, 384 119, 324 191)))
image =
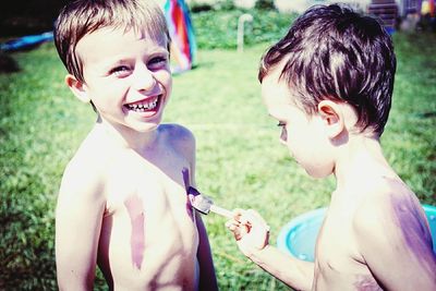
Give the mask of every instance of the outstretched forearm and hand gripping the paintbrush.
POLYGON ((269 228, 254 210, 234 210, 227 227, 233 232, 240 251, 261 268, 296 290, 311 290, 314 263, 292 257, 268 244, 269 228))

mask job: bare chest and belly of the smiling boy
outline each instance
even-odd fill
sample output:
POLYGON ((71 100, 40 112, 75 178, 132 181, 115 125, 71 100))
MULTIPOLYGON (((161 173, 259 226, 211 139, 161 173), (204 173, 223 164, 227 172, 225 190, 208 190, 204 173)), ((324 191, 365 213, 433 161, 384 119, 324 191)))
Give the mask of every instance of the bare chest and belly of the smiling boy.
POLYGON ((168 160, 128 156, 108 170, 99 256, 113 277, 195 272, 198 235, 183 180, 189 165, 178 156, 168 160))

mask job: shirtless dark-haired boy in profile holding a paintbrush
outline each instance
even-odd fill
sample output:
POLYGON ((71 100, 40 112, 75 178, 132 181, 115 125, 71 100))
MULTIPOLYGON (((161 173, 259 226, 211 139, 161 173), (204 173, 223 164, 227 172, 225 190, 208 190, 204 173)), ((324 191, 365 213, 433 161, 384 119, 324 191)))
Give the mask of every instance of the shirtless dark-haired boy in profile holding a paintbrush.
POLYGON ((268 244, 254 210, 227 226, 239 248, 296 290, 436 290, 423 208, 384 157, 396 71, 380 24, 341 5, 311 8, 262 59, 259 81, 281 143, 315 178, 334 174, 315 262, 268 244))

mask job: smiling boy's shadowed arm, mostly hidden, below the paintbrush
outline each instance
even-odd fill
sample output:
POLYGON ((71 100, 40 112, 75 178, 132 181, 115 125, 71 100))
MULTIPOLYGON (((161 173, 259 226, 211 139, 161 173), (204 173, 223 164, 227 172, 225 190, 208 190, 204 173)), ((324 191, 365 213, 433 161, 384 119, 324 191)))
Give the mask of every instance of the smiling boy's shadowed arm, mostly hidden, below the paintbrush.
POLYGON ((207 238, 206 228, 203 223, 202 217, 195 213, 195 221, 198 229, 199 244, 197 251, 197 259, 199 264, 199 290, 214 291, 218 290, 217 278, 215 275, 214 260, 211 258, 211 251, 209 240, 207 238))

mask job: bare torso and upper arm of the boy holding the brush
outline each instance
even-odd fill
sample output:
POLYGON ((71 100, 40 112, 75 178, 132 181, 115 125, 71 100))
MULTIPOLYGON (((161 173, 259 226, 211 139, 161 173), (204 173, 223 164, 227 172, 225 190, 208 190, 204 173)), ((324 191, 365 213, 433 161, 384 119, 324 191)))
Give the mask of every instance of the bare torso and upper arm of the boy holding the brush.
POLYGON ((316 244, 313 289, 431 290, 432 239, 415 194, 390 168, 367 161, 355 167, 347 168, 344 185, 331 195, 316 244))

